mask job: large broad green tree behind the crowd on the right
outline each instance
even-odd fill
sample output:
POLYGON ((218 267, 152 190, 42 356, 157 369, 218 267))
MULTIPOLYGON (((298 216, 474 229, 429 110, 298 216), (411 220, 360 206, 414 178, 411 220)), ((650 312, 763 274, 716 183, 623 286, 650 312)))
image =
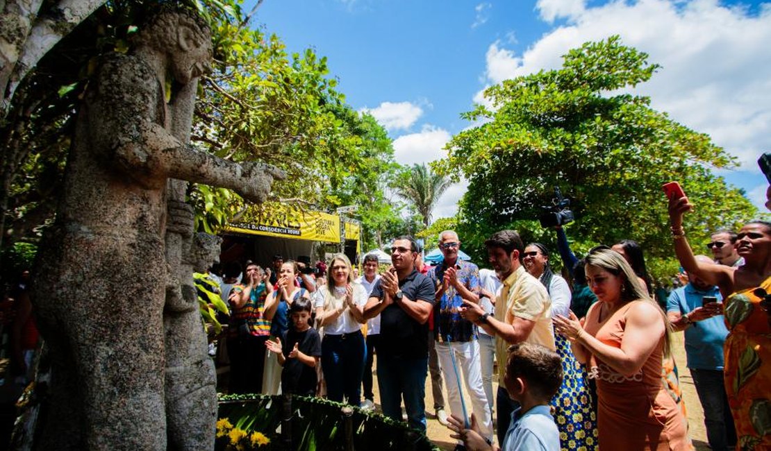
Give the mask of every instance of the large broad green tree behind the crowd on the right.
POLYGON ((435 165, 470 181, 460 228, 477 257, 484 238, 503 227, 556 250, 554 232, 533 221, 551 204, 554 186, 572 201, 577 220, 569 234, 577 249, 635 239, 648 259, 671 258, 661 186, 672 180, 697 205, 687 224, 694 243, 756 215, 739 189, 712 174, 735 167, 732 157, 708 135, 651 109, 647 97, 628 93, 658 69, 613 36, 571 50, 562 68, 487 89, 492 106, 463 115, 483 124, 456 135, 435 165))

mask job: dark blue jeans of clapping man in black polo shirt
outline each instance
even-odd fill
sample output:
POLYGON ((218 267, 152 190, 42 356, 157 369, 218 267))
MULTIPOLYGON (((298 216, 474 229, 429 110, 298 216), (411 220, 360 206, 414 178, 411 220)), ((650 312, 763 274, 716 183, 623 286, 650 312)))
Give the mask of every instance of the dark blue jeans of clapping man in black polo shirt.
POLYGON ((383 415, 402 421, 402 396, 409 426, 426 433, 426 374, 428 356, 378 356, 378 386, 383 415))

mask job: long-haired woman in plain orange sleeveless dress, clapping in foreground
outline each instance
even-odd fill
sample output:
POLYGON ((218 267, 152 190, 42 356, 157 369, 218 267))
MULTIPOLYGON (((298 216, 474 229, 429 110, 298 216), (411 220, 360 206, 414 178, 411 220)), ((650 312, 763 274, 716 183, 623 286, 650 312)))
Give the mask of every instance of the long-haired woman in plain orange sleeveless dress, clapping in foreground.
POLYGON ((601 246, 586 257, 589 287, 600 302, 584 325, 571 312, 554 328, 571 340, 597 379, 600 449, 692 449, 682 413, 662 385, 667 319, 617 252, 601 246))

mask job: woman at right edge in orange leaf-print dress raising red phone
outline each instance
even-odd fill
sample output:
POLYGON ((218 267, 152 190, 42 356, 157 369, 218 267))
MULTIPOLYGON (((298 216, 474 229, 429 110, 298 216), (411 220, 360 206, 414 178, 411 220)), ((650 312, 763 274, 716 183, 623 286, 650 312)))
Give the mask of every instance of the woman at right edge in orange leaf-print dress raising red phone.
POLYGON ((753 221, 742 227, 736 252, 744 265, 705 265, 693 256, 682 228, 682 215, 693 208, 688 198, 669 199, 675 252, 685 271, 720 289, 729 335, 726 394, 739 439, 736 449, 771 449, 771 223, 753 221))

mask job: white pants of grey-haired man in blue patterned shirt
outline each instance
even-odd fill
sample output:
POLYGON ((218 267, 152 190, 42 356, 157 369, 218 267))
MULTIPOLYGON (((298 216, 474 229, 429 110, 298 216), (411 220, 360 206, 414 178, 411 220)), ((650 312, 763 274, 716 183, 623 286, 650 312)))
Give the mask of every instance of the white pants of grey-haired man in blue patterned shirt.
MULTIPOLYGON (((490 406, 487 404, 482 386, 482 372, 480 363, 480 347, 476 340, 470 342, 436 342, 436 353, 439 355, 439 363, 442 366, 444 383, 447 387, 447 396, 449 397, 450 413, 463 419, 463 407, 461 407, 460 381, 456 376, 463 373, 463 379, 466 381, 466 390, 471 397, 471 406, 476 421, 479 423, 480 432, 487 439, 493 438, 493 417, 490 414, 490 406), (455 365, 450 356, 453 352, 455 365)), ((466 407, 466 411, 468 408, 466 407)), ((471 419, 469 418, 469 421, 471 419)))

